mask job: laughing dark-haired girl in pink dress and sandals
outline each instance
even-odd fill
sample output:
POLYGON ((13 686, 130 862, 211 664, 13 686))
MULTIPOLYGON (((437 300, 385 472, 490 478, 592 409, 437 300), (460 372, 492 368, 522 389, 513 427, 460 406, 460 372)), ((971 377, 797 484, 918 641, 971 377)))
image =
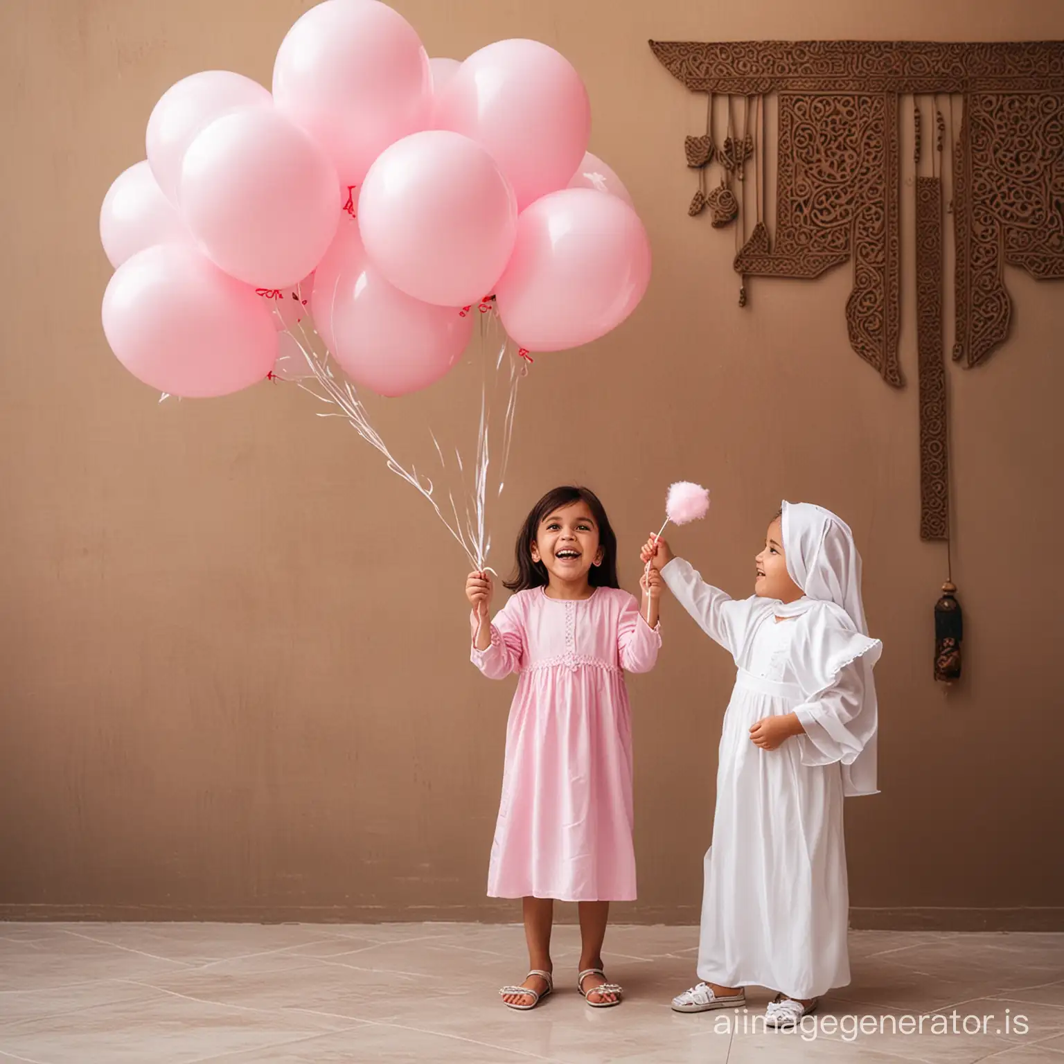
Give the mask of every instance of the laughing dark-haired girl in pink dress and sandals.
POLYGON ((493 680, 518 674, 506 726, 502 801, 487 893, 522 898, 531 971, 500 993, 533 1009, 553 990, 554 899, 580 911, 578 988, 596 1008, 620 1003, 602 970, 611 901, 635 898, 632 730, 625 671, 654 666, 661 635, 655 569, 643 608, 617 586, 617 539, 582 487, 548 492, 517 537, 515 594, 488 620, 493 582, 471 572, 472 662, 493 680))

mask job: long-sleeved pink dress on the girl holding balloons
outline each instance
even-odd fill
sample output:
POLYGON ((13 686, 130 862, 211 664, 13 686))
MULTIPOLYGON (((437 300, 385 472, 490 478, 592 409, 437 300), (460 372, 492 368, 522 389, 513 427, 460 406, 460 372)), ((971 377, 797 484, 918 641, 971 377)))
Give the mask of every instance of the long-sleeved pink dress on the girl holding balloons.
POLYGON ((491 679, 518 672, 487 893, 494 898, 630 901, 632 729, 625 671, 646 672, 661 635, 635 599, 518 592, 472 650, 491 679))

